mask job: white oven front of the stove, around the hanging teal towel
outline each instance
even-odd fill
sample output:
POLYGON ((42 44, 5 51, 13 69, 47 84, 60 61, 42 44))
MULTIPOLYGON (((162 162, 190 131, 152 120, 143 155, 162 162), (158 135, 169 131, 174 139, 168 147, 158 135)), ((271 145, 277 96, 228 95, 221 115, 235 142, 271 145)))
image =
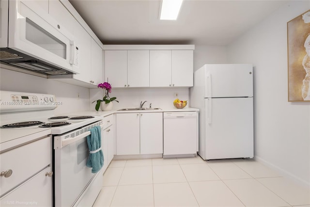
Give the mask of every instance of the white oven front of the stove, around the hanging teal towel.
POLYGON ((98 121, 89 126, 54 137, 54 198, 56 207, 92 206, 102 186, 102 170, 93 174, 86 166, 89 129, 102 126, 98 121))

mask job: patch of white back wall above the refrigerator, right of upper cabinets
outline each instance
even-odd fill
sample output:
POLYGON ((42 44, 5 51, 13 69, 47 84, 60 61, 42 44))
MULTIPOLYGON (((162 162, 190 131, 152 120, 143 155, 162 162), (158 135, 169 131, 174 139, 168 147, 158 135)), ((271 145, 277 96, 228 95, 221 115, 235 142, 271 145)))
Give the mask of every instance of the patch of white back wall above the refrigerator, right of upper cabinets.
POLYGON ((227 51, 225 46, 195 45, 194 71, 204 64, 227 63, 227 51))

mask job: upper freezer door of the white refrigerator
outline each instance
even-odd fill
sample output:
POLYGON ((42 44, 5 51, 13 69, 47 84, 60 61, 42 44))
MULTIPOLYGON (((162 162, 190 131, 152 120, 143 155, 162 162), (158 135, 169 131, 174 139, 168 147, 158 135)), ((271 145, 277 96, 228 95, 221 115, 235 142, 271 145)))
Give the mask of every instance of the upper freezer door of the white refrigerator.
POLYGON ((206 64, 204 97, 253 96, 252 64, 206 64))

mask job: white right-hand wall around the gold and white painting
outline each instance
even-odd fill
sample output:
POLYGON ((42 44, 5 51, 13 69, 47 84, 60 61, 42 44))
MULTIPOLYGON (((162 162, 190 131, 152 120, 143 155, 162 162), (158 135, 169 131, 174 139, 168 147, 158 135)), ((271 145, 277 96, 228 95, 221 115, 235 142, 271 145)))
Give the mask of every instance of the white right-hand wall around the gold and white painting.
POLYGON ((290 1, 227 47, 231 63, 254 64, 258 160, 310 185, 310 103, 287 101, 287 22, 310 9, 290 1))

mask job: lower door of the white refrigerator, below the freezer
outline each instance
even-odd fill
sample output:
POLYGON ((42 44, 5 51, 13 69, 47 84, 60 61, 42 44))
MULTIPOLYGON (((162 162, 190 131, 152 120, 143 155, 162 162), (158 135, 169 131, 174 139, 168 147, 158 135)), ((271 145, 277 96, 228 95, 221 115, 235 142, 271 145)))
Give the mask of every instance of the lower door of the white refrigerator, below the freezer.
POLYGON ((253 158, 253 98, 206 98, 205 106, 205 159, 253 158))

